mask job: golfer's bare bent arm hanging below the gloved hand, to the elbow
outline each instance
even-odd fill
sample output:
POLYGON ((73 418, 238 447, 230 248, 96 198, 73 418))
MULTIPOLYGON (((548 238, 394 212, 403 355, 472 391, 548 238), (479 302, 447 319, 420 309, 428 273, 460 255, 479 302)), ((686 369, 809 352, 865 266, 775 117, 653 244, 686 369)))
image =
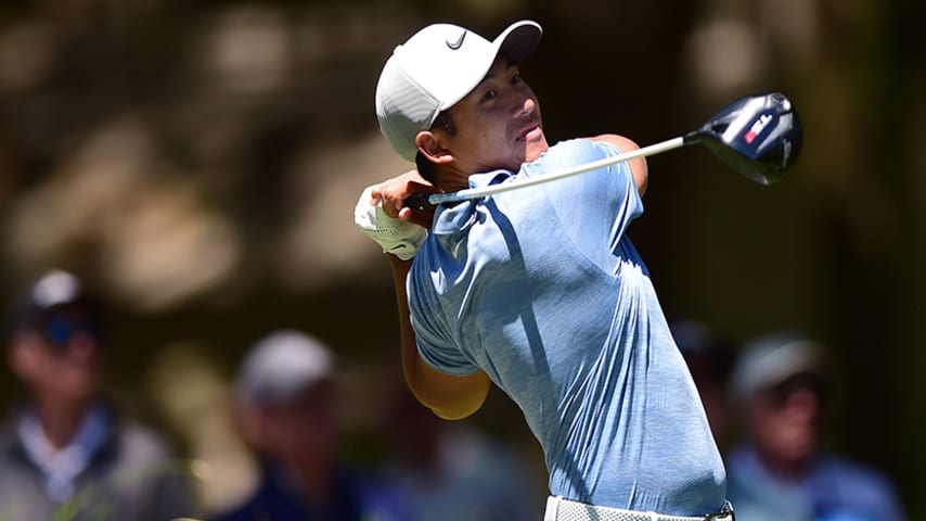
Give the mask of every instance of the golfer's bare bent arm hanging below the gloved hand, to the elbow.
POLYGON ((435 415, 447 420, 465 418, 483 406, 489 393, 491 381, 483 371, 466 377, 454 377, 435 370, 417 352, 415 333, 411 325, 409 301, 406 293, 406 278, 411 260, 401 260, 386 255, 393 268, 396 287, 396 300, 401 334, 402 371, 409 389, 419 402, 432 409, 435 415))

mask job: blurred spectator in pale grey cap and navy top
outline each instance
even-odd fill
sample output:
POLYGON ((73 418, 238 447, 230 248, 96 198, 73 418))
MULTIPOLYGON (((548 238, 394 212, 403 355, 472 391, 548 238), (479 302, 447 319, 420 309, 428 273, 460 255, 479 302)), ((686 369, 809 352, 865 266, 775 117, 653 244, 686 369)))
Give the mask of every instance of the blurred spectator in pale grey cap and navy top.
POLYGON ((243 434, 261 460, 257 490, 216 521, 409 521, 390 486, 337 460, 335 360, 297 331, 258 341, 235 382, 243 434))

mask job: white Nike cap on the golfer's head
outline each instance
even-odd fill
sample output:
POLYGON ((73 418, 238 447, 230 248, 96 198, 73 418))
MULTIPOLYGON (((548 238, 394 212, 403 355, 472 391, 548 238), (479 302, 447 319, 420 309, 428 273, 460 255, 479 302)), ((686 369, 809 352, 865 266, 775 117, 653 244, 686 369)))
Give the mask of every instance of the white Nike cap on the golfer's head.
POLYGON ((376 86, 380 130, 396 152, 414 161, 417 132, 470 93, 499 53, 520 63, 540 41, 540 25, 520 21, 489 41, 470 29, 434 24, 398 46, 376 86))

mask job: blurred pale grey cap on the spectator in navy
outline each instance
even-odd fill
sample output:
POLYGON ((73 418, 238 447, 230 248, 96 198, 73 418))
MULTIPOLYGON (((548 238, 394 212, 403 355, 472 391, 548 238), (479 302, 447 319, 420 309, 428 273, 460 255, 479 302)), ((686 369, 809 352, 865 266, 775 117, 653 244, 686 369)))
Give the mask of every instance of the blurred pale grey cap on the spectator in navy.
POLYGON ((235 390, 250 405, 286 405, 334 376, 334 354, 318 339, 279 330, 254 344, 239 369, 235 390))

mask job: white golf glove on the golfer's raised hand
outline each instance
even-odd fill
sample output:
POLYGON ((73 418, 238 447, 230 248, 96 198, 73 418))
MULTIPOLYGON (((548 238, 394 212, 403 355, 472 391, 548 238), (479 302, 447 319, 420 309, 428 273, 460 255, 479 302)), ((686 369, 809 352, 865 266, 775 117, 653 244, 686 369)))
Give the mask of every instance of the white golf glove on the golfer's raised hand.
POLYGON ((353 223, 370 239, 383 247, 383 253, 390 253, 402 260, 415 256, 417 250, 427 239, 427 230, 402 219, 389 217, 383 209, 383 204, 370 204, 373 187, 366 187, 353 208, 353 223))

